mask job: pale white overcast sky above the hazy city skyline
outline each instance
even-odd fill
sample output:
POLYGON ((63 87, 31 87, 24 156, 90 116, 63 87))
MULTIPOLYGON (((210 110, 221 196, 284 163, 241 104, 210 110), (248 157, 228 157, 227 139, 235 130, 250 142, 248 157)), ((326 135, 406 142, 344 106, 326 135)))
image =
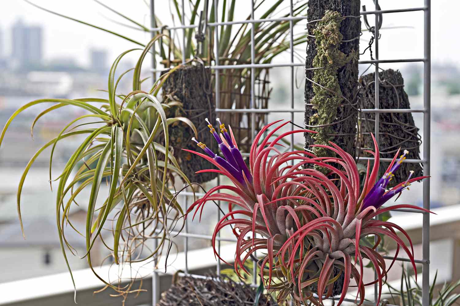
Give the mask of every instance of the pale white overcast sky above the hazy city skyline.
MULTIPOLYGON (((150 25, 150 9, 146 6, 144 0, 102 1, 116 10, 122 11, 136 21, 147 26, 150 25)), ((236 19, 244 19, 249 12, 249 7, 246 7, 249 1, 237 1, 236 19)), ((270 3, 270 1, 274 2, 274 0, 267 2, 270 3)), ((32 0, 32 2, 101 27, 125 33, 144 43, 150 37, 149 33, 128 29, 108 20, 107 18, 112 18, 122 21, 121 17, 116 16, 92 0, 32 0)), ((289 1, 286 2, 287 4, 289 3, 289 1)), ((156 10, 160 12, 159 16, 163 20, 167 19, 169 14, 167 3, 167 0, 156 0, 156 10)), ((458 11, 460 10, 460 1, 433 0, 432 3, 432 60, 437 63, 454 63, 455 65, 460 65, 458 56, 459 42, 454 34, 455 29, 459 25, 458 11)), ((366 4, 368 10, 372 10, 373 4, 371 0, 362 0, 362 4, 366 4)), ((380 0, 380 5, 384 10, 402 7, 420 7, 423 6, 423 0, 380 0)), ((54 16, 45 11, 40 11, 23 0, 0 0, 0 12, 2 12, 0 29, 3 36, 2 49, 4 55, 9 54, 11 25, 18 18, 22 18, 26 23, 41 24, 44 27, 45 59, 73 56, 77 58, 78 62, 86 65, 88 63, 88 49, 90 47, 109 50, 109 61, 112 61, 123 50, 134 46, 108 33, 54 16)), ((370 19, 374 19, 374 17, 371 15, 370 19)), ((384 27, 392 26, 405 26, 408 28, 382 30, 380 58, 423 57, 423 12, 385 14, 384 27)), ((297 29, 298 31, 302 31, 303 28, 305 27, 299 26, 297 29)), ((363 35, 362 39, 368 39, 368 34, 363 35)), ((362 41, 361 50, 366 45, 367 42, 362 41)))

